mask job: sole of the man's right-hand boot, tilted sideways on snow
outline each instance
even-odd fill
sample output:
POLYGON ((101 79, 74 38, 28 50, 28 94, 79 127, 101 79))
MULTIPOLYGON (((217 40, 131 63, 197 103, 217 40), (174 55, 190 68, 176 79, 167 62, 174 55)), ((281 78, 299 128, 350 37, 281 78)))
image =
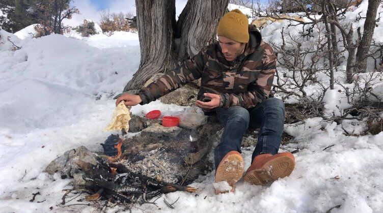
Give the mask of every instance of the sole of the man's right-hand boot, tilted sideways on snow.
POLYGON ((281 156, 268 161, 260 169, 246 172, 243 180, 253 185, 265 185, 278 178, 289 176, 295 167, 295 161, 287 156, 281 156))

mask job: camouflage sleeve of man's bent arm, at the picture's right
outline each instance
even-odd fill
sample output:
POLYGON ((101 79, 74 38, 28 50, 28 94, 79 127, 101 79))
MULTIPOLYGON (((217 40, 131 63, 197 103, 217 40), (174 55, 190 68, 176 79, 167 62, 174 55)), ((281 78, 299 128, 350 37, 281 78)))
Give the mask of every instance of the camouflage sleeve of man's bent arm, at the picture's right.
POLYGON ((248 91, 238 94, 221 94, 220 107, 241 106, 243 108, 252 108, 268 98, 276 72, 277 57, 271 47, 264 51, 262 69, 257 71, 258 76, 255 81, 249 84, 248 91))

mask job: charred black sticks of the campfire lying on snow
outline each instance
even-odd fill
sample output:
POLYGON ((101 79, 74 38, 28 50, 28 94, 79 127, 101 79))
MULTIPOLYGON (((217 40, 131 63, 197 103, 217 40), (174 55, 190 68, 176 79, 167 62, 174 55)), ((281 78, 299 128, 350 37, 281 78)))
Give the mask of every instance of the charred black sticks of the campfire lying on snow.
POLYGON ((87 200, 114 199, 123 203, 147 203, 153 197, 175 191, 196 192, 193 187, 179 186, 158 181, 151 177, 136 174, 122 164, 107 164, 99 159, 99 164, 92 165, 78 160, 77 165, 85 172, 85 187, 94 193, 87 200), (117 174, 113 174, 116 168, 117 174))

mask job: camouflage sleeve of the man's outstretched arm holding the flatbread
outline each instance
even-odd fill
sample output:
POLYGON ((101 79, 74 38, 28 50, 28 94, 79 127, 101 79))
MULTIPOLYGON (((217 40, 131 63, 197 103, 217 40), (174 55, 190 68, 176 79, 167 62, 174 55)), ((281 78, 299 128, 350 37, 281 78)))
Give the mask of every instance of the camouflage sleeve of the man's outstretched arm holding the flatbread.
POLYGON ((143 87, 138 95, 141 97, 141 105, 165 96, 186 83, 201 78, 201 73, 207 62, 206 48, 202 49, 193 58, 187 59, 183 65, 178 66, 172 72, 161 76, 156 81, 143 87))

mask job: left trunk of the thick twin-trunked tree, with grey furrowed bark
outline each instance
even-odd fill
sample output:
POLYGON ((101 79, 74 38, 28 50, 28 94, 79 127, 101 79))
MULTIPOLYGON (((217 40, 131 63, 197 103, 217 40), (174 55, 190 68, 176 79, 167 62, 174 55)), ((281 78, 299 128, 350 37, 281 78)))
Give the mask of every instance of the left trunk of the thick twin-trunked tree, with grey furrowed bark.
POLYGON ((175 67, 173 28, 175 0, 136 0, 141 61, 139 70, 124 91, 140 88, 157 72, 175 67))

